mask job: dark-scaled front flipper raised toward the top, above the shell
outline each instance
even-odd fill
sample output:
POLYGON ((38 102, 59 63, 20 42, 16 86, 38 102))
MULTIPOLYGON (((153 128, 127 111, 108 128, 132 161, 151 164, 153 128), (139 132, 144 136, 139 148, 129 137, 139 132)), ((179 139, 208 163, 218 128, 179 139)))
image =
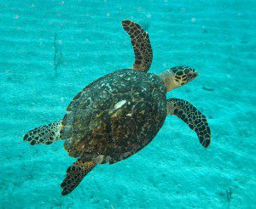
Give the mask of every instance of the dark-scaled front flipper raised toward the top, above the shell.
POLYGON ((123 20, 122 25, 131 37, 131 44, 135 54, 133 69, 147 72, 153 59, 148 33, 140 25, 131 20, 123 20))

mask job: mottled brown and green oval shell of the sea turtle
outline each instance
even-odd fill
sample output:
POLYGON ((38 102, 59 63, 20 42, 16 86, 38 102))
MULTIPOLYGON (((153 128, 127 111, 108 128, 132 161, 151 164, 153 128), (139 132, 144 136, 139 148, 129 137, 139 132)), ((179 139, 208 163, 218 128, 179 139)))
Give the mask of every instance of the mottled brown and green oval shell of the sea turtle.
POLYGON ((69 155, 110 164, 143 149, 166 119, 159 76, 114 71, 84 88, 67 106, 61 138, 69 155))

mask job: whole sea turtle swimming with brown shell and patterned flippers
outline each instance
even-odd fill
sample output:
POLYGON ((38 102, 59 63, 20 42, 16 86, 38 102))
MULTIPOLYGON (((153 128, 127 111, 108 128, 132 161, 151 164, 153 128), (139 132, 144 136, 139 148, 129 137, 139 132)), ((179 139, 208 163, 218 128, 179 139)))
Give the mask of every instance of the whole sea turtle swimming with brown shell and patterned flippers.
POLYGON ((63 119, 34 128, 23 138, 32 145, 65 139, 65 150, 79 158, 67 168, 62 195, 72 192, 97 164, 113 164, 142 150, 168 114, 187 123, 205 148, 211 142, 206 116, 183 99, 166 99, 166 92, 192 81, 197 72, 177 66, 159 75, 148 73, 153 59, 148 33, 131 20, 122 25, 131 37, 133 67, 91 82, 73 98, 63 119))

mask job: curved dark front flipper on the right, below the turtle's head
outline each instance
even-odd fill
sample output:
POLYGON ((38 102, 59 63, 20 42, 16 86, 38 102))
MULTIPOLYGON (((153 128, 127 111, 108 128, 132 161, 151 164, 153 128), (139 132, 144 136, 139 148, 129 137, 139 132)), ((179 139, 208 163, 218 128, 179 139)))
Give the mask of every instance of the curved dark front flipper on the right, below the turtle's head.
POLYGON ((211 143, 211 130, 207 117, 193 104, 183 99, 167 99, 167 113, 182 119, 197 133, 200 143, 207 148, 211 143))

